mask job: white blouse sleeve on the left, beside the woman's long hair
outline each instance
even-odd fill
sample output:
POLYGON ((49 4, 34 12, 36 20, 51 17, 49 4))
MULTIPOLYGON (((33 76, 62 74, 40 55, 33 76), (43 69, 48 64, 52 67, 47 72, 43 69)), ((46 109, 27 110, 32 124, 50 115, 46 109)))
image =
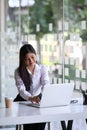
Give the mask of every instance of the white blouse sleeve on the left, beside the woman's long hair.
POLYGON ((28 91, 26 91, 25 85, 24 85, 21 77, 19 76, 17 69, 14 72, 14 77, 15 77, 15 84, 20 93, 20 96, 22 98, 24 98, 25 100, 28 100, 28 98, 29 98, 29 96, 31 96, 31 94, 28 91))

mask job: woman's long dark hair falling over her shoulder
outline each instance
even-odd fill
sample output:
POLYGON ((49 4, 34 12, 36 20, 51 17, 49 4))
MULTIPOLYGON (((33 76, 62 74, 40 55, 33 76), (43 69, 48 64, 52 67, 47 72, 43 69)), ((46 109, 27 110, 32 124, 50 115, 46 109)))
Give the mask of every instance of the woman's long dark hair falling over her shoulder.
POLYGON ((27 71, 26 66, 24 64, 25 56, 27 53, 34 53, 36 55, 36 51, 31 44, 24 44, 20 48, 20 52, 19 52, 18 71, 19 71, 19 75, 20 75, 21 79, 23 80, 23 83, 26 87, 26 90, 28 91, 30 89, 30 85, 32 84, 32 77, 31 77, 31 74, 29 74, 29 72, 27 71))

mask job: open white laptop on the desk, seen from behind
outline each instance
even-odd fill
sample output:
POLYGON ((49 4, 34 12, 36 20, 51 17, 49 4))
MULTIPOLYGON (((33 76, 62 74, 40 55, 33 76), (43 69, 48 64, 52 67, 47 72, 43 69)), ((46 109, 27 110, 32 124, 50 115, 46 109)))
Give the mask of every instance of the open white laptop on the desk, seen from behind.
POLYGON ((45 85, 40 103, 30 103, 33 107, 57 107, 69 105, 72 98, 74 83, 45 85))

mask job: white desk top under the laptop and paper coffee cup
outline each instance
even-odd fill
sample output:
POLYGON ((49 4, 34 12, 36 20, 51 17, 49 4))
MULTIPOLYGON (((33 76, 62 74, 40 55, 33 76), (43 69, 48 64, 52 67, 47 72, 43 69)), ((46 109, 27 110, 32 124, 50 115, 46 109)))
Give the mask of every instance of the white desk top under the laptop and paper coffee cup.
POLYGON ((0 126, 62 120, 86 119, 87 106, 34 108, 28 102, 15 102, 11 109, 0 107, 0 126))

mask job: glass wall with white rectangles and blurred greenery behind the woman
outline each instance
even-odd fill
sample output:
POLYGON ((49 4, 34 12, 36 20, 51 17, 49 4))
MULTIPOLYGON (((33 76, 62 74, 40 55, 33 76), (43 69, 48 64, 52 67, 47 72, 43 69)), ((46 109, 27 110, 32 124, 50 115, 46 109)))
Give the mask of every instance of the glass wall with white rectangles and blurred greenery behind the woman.
POLYGON ((87 0, 0 0, 0 102, 18 91, 19 49, 30 43, 50 83, 87 88, 87 0))

